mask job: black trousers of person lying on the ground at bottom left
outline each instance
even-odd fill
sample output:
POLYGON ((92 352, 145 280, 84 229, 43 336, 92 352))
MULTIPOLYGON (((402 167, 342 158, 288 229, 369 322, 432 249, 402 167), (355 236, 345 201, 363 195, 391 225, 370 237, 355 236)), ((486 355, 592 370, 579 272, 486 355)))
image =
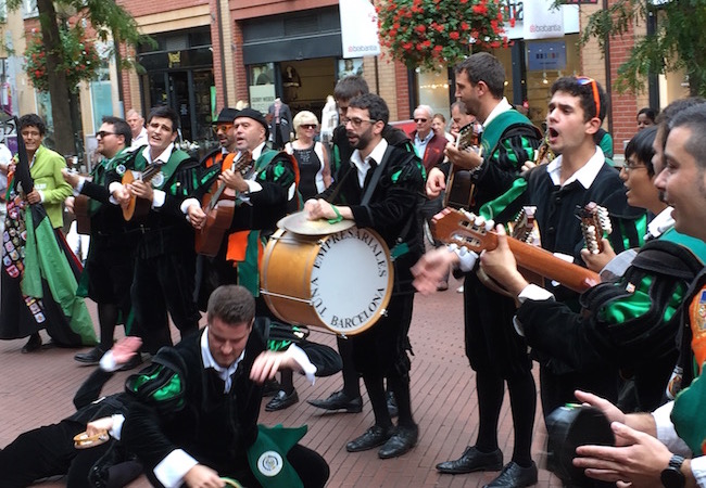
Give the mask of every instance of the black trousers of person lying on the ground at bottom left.
POLYGON ((89 488, 88 471, 112 441, 78 450, 74 436, 85 429, 81 423, 63 420, 21 434, 0 451, 0 485, 24 488, 37 479, 67 475, 67 487, 89 488))

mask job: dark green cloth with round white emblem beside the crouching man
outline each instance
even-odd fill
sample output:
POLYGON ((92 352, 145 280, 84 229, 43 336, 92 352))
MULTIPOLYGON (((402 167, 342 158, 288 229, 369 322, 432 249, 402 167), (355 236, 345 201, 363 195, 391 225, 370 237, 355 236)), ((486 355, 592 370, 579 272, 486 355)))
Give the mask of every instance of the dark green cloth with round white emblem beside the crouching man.
POLYGON ((281 424, 274 427, 257 425, 257 439, 248 448, 250 470, 257 481, 267 488, 303 488, 303 484, 287 453, 307 431, 306 425, 285 428, 281 424))

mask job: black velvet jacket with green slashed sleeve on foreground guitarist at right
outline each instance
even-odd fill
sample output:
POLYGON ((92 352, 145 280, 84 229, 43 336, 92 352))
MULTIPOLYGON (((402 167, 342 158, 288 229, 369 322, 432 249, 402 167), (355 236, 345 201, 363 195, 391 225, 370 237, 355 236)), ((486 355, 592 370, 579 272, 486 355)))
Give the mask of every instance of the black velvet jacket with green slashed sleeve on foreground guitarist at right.
POLYGON ((636 408, 648 412, 663 403, 677 361, 678 310, 703 262, 706 244, 670 230, 645 244, 619 280, 587 291, 584 311, 527 300, 517 319, 531 347, 576 371, 612 364, 633 376, 636 408))

